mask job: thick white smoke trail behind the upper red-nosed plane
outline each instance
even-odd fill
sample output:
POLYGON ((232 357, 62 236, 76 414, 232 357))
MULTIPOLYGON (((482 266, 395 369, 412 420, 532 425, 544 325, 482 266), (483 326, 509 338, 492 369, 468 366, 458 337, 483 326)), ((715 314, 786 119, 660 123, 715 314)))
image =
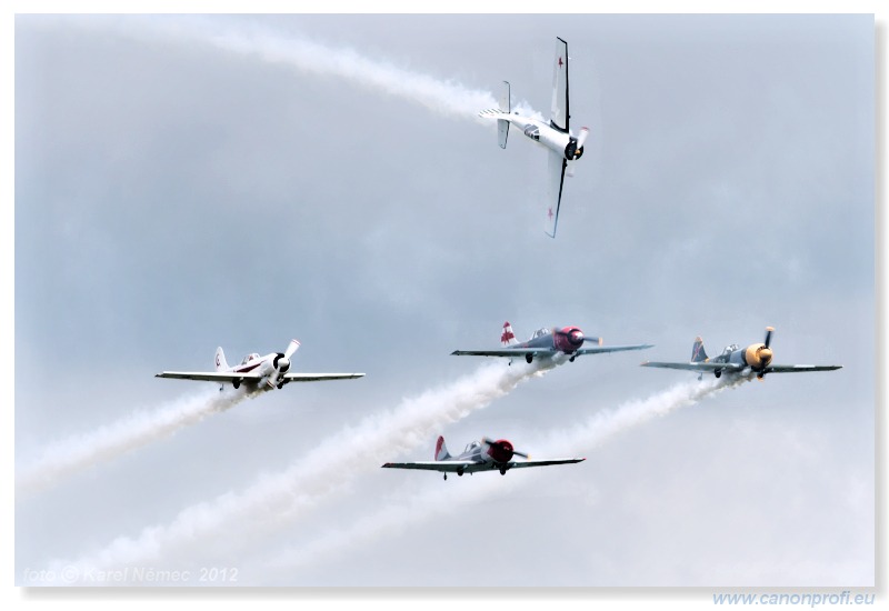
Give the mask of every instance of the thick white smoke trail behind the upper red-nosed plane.
POLYGON ((329 498, 357 475, 376 471, 393 454, 428 444, 443 425, 552 367, 551 361, 482 365, 472 375, 346 427, 286 471, 264 475, 241 493, 229 492, 212 502, 189 507, 169 525, 146 528, 138 538, 121 537, 91 558, 53 567, 86 571, 158 562, 164 557, 182 561, 204 555, 219 561, 220 554, 232 553, 239 545, 291 522, 301 509, 329 498))

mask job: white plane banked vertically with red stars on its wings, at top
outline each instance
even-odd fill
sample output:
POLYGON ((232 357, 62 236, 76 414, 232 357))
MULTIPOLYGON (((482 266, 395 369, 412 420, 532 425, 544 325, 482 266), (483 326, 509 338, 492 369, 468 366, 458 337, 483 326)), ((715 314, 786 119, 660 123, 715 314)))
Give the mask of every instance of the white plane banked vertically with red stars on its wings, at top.
POLYGON ((566 170, 575 176, 573 162, 583 154, 583 143, 590 130, 581 128, 577 137, 571 133, 568 98, 568 43, 556 39, 556 58, 552 72, 552 108, 549 123, 512 111, 510 87, 503 81, 503 91, 498 100, 500 108, 482 110, 479 116, 497 119, 497 137, 501 149, 507 148, 510 123, 520 129, 533 142, 549 152, 549 200, 545 231, 556 237, 559 223, 559 208, 562 201, 566 170))

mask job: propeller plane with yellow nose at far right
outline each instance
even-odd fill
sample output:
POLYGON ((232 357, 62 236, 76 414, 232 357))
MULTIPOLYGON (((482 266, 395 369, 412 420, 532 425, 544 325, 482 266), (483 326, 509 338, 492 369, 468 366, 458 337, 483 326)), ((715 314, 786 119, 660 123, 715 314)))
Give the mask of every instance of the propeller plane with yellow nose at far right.
POLYGON ((682 362, 652 362, 647 361, 642 367, 659 367, 665 369, 683 369, 687 371, 698 371, 700 380, 706 372, 710 372, 717 378, 722 373, 732 375, 752 375, 762 380, 767 373, 805 373, 808 371, 832 371, 841 369, 842 365, 818 365, 818 364, 772 364, 771 338, 775 328, 766 328, 766 339, 761 343, 751 343, 742 348, 737 343, 727 345, 722 353, 710 359, 703 349, 703 340, 695 338, 691 347, 691 361, 682 362))

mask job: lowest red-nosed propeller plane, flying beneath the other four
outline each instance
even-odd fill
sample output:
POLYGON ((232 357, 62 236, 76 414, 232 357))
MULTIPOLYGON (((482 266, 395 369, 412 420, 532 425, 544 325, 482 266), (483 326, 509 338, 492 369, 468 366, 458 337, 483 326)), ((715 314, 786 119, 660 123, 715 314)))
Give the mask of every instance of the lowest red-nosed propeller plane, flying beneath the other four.
POLYGON ((500 471, 506 475, 510 469, 521 469, 525 467, 547 467, 550 464, 570 464, 581 462, 587 459, 550 459, 550 460, 512 460, 515 457, 528 459, 528 454, 519 452, 512 447, 512 442, 506 439, 482 438, 481 441, 470 442, 463 452, 457 457, 448 453, 444 445, 444 438, 439 437, 436 442, 436 460, 421 462, 387 462, 383 469, 421 469, 426 471, 439 471, 444 473, 475 473, 477 471, 500 471))

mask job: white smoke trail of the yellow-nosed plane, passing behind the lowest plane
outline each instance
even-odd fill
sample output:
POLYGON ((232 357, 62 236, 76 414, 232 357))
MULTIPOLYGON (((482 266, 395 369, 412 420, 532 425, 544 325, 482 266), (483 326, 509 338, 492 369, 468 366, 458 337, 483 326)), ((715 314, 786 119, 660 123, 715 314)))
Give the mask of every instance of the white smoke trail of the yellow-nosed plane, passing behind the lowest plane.
MULTIPOLYGON (((549 433, 546 443, 535 445, 535 453, 541 457, 577 455, 579 452, 595 449, 628 429, 643 424, 653 418, 667 415, 679 408, 695 404, 711 394, 749 380, 749 377, 737 377, 681 383, 647 399, 629 401, 613 410, 598 411, 578 427, 549 433)), ((371 543, 383 535, 401 532, 410 527, 434 520, 443 513, 451 513, 459 504, 482 501, 495 490, 498 494, 502 494, 505 487, 509 489, 528 481, 530 481, 528 478, 521 480, 513 478, 509 482, 500 478, 492 478, 485 484, 479 482, 478 485, 461 491, 459 497, 455 495, 450 487, 442 487, 440 482, 437 482, 439 485, 428 487, 421 494, 412 499, 407 501, 402 499, 373 514, 359 519, 349 529, 327 532, 314 541, 301 544, 299 549, 287 550, 273 559, 269 567, 292 570, 318 562, 344 550, 371 543)))

